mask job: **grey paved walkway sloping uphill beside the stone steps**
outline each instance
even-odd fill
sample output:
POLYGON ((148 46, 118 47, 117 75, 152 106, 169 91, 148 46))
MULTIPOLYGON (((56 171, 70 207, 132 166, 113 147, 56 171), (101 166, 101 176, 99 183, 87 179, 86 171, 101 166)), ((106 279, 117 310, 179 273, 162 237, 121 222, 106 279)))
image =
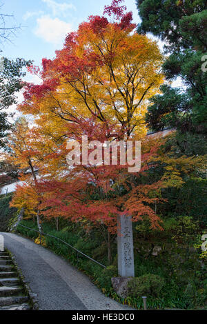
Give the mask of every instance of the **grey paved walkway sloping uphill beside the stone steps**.
POLYGON ((2 233, 41 310, 132 310, 104 296, 85 274, 46 248, 12 233, 2 233))

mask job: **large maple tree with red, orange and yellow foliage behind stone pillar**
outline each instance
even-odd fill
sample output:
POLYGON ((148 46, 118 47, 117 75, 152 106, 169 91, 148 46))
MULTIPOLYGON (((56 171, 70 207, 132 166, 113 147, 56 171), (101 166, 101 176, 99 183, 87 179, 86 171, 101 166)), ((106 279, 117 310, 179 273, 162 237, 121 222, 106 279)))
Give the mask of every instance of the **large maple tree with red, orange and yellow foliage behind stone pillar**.
POLYGON ((113 0, 103 16, 90 16, 68 34, 55 59, 43 59, 42 70, 29 68, 42 83, 28 83, 19 105, 35 123, 27 133, 29 145, 18 154, 31 170, 30 161, 38 161, 43 175, 38 180, 33 176, 41 197, 36 210, 48 218, 87 219, 110 232, 116 231, 121 214, 132 215, 133 221, 148 216, 152 227, 160 228, 153 206, 161 201, 156 194, 161 181, 141 180, 159 143, 150 148, 146 141, 139 174, 128 174, 127 165, 120 163, 69 168, 66 161, 67 141, 81 143, 82 135, 103 143, 143 139, 146 134, 148 99, 164 81, 163 57, 155 41, 135 32, 132 13, 125 13, 121 2, 113 0))

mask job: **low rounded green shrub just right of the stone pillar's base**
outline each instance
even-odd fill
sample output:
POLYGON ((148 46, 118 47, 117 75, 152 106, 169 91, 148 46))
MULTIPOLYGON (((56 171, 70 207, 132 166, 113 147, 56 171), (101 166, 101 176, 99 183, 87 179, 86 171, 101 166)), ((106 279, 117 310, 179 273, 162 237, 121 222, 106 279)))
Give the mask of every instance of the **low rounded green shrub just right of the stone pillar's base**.
POLYGON ((128 282, 129 295, 137 296, 158 296, 164 287, 165 280, 156 274, 144 274, 128 282))

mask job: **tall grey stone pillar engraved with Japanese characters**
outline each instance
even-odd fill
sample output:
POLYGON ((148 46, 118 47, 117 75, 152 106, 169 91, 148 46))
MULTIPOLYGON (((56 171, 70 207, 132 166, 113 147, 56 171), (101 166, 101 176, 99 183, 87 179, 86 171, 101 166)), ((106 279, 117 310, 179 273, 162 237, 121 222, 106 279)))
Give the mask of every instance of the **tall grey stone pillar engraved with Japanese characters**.
POLYGON ((135 276, 132 217, 118 216, 117 225, 119 276, 135 276))

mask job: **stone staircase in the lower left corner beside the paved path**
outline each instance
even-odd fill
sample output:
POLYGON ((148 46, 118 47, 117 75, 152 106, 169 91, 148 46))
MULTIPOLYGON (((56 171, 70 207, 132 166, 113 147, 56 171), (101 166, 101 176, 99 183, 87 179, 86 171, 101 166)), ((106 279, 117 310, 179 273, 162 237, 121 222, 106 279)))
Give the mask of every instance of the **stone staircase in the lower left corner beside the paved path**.
POLYGON ((30 298, 8 252, 0 252, 0 310, 32 310, 30 298))

